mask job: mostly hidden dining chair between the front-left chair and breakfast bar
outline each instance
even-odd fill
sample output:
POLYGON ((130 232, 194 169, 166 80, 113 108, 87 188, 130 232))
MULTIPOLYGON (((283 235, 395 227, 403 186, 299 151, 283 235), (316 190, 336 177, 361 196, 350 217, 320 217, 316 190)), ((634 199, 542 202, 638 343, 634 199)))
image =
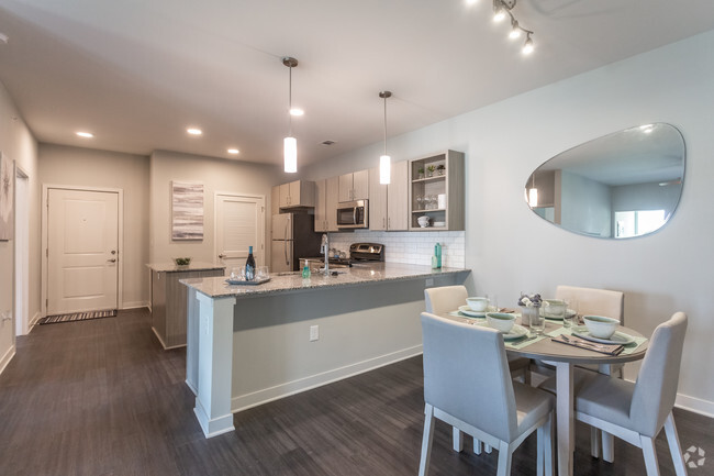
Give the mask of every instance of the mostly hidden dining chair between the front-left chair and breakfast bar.
MULTIPOLYGON (((432 314, 446 314, 450 311, 458 309, 466 303, 466 298, 469 297, 466 286, 442 286, 438 288, 424 289, 424 301, 426 303, 426 312, 432 314)), ((509 357, 509 368, 511 376, 522 377, 524 384, 531 383, 531 359, 523 357, 509 357)), ((454 451, 464 451, 464 435, 458 429, 453 431, 454 451)), ((473 452, 481 454, 481 443, 478 440, 473 441, 473 452)), ((491 453, 491 447, 486 446, 486 452, 491 453)))

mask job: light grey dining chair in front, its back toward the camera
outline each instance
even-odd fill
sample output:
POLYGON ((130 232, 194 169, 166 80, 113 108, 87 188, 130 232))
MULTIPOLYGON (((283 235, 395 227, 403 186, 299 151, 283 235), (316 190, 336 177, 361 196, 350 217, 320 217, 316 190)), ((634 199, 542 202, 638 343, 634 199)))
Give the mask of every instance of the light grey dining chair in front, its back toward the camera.
POLYGON ((499 476, 511 474, 513 452, 536 431, 537 474, 551 476, 554 397, 511 378, 503 336, 428 312, 421 320, 425 418, 420 476, 428 471, 435 419, 497 447, 499 476))

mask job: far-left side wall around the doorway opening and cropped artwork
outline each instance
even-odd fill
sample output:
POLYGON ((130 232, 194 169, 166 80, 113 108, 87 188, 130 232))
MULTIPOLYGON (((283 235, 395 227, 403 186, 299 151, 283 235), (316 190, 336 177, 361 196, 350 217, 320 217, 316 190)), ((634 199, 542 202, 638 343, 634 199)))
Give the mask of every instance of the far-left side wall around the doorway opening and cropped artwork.
MULTIPOLYGON (((0 151, 29 176, 30 187, 30 308, 31 319, 40 312, 40 188, 37 143, 0 84, 0 151)), ((13 312, 14 240, 0 241, 0 312, 13 312)), ((0 372, 14 353, 11 321, 0 322, 0 372)))

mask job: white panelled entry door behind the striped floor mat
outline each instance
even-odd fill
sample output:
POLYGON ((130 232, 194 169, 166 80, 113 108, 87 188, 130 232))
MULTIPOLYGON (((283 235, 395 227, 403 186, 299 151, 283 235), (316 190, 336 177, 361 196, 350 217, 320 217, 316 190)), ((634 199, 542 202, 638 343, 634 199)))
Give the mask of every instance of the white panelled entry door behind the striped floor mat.
POLYGON ((47 190, 47 314, 116 309, 119 193, 47 190))

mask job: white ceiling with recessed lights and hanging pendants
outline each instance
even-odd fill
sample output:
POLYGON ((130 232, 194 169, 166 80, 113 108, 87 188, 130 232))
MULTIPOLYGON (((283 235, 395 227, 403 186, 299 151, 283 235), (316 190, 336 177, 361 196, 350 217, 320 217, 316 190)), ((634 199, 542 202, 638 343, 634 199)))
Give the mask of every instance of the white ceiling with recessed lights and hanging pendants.
POLYGON ((478 0, 2 0, 0 81, 41 142, 322 160, 714 29, 711 0, 521 0, 524 57, 478 0), (189 137, 186 128, 203 129, 189 137), (74 133, 89 130, 94 139, 74 133), (332 146, 320 142, 333 140, 332 146))

